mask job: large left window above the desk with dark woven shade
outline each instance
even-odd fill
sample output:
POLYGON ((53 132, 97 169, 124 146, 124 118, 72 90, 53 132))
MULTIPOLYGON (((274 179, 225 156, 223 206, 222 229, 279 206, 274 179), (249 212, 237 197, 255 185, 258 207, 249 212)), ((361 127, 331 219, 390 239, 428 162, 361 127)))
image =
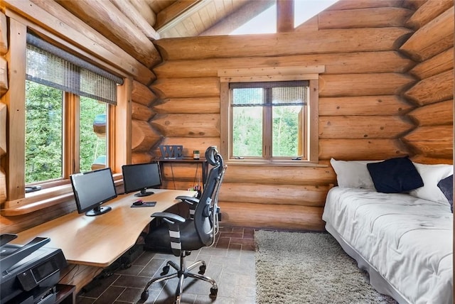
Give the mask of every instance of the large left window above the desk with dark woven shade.
POLYGON ((122 80, 27 35, 26 184, 108 166, 109 107, 122 80))

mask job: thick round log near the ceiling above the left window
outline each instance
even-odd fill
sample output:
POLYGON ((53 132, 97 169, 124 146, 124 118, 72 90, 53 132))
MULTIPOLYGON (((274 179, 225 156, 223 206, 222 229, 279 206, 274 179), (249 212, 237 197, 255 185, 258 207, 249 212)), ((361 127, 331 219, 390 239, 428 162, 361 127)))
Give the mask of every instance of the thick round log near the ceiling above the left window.
POLYGON ((154 44, 112 2, 90 0, 57 2, 146 67, 151 68, 161 62, 161 55, 154 44))

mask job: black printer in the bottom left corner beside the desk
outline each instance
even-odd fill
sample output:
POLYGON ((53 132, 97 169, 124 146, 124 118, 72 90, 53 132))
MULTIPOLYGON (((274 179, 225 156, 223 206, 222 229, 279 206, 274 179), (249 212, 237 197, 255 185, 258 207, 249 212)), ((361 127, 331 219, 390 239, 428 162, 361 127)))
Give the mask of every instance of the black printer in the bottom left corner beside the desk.
POLYGON ((55 303, 60 269, 68 263, 50 239, 36 237, 25 245, 9 244, 16 234, 0 235, 0 304, 55 303))

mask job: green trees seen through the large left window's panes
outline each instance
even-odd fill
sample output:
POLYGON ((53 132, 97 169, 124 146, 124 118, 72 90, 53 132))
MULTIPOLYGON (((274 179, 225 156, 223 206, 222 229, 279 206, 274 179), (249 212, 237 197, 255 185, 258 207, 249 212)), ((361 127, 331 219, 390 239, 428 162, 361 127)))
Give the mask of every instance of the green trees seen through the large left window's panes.
MULTIPOLYGON (((86 97, 80 100, 80 171, 84 172, 91 170, 97 156, 106 154, 106 139, 95 134, 93 121, 106 113, 107 105, 86 97)), ((26 183, 62 177, 63 117, 61 90, 26 81, 26 183)))

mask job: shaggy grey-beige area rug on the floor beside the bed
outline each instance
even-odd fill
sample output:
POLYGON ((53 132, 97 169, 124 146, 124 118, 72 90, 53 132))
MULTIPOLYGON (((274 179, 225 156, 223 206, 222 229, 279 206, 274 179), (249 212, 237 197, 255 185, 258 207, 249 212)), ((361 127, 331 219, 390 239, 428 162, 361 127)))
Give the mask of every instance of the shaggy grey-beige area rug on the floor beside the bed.
POLYGON ((326 233, 255 232, 256 303, 397 303, 326 233))

